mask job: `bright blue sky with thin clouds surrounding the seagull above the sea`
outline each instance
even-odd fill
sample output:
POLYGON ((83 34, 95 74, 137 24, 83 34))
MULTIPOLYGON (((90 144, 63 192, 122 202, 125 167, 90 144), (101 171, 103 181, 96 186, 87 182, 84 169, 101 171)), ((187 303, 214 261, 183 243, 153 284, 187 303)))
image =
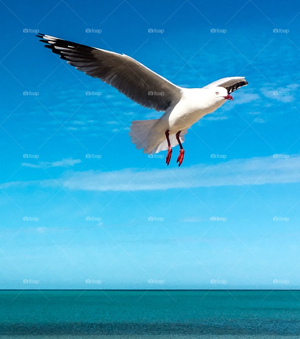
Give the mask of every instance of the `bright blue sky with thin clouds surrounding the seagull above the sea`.
POLYGON ((299 287, 294 2, 0 7, 1 288, 299 287), (160 114, 62 62, 37 30, 130 55, 184 87, 227 76, 249 86, 193 125, 183 165, 176 147, 166 167, 166 152, 148 158, 128 136, 132 120, 160 114))

